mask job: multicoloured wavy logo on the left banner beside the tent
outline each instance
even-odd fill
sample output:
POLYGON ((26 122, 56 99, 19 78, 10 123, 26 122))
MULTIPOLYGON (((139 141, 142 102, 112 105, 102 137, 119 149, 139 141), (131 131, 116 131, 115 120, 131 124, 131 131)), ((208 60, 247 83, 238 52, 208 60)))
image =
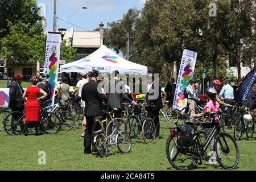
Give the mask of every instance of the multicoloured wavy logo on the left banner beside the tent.
POLYGON ((51 92, 51 97, 53 97, 54 89, 55 89, 55 79, 57 77, 56 70, 57 70, 57 50, 54 49, 52 55, 49 57, 49 61, 51 64, 49 65, 49 90, 51 92))

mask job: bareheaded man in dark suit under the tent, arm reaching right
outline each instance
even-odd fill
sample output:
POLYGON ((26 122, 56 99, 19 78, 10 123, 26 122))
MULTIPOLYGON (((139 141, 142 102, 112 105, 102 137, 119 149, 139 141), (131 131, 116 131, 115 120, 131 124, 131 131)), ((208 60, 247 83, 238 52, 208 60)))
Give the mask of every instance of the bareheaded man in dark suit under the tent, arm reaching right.
POLYGON ((117 70, 112 73, 113 79, 108 82, 108 101, 110 109, 117 108, 118 110, 114 110, 115 118, 122 118, 122 109, 123 105, 121 104, 123 100, 128 101, 130 104, 137 106, 137 102, 131 100, 128 95, 125 93, 125 84, 118 80, 119 72, 117 70))

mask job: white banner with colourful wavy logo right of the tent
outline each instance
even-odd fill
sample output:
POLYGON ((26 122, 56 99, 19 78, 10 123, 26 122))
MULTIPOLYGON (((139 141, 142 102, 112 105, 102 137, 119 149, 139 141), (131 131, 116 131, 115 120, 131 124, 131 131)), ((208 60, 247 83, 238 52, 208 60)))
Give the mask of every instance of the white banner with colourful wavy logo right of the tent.
POLYGON ((196 65, 197 52, 184 49, 180 63, 179 75, 176 80, 176 90, 174 94, 174 109, 182 110, 187 106, 187 98, 184 97, 184 89, 189 85, 188 80, 193 78, 196 65))

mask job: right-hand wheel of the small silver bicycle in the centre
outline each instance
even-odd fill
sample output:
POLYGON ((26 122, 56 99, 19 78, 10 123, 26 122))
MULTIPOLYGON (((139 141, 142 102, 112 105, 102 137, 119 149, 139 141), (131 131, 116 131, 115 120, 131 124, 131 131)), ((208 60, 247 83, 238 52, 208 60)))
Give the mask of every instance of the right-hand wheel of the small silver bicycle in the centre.
POLYGON ((117 134, 117 148, 122 153, 128 153, 131 150, 131 139, 129 134, 118 132, 117 134))

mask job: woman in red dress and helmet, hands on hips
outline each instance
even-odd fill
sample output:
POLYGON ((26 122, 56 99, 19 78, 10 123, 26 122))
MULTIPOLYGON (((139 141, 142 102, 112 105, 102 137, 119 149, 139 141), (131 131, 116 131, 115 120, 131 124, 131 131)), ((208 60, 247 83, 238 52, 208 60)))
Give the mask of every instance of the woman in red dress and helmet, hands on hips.
POLYGON ((40 100, 47 97, 47 93, 43 89, 36 87, 39 79, 33 76, 31 79, 31 86, 28 86, 23 93, 23 100, 25 105, 25 136, 27 136, 28 127, 34 123, 36 135, 38 135, 38 125, 40 119, 40 100), (43 95, 39 97, 40 93, 43 95), (26 98, 27 97, 27 100, 26 98))

